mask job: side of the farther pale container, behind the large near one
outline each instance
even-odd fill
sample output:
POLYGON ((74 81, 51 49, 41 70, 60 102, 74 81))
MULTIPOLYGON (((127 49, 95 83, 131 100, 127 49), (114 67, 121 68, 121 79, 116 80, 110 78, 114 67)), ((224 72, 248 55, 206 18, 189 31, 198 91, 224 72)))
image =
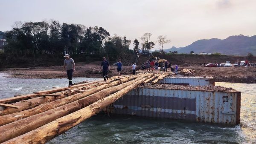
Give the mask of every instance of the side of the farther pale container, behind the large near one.
POLYGON ((213 77, 166 77, 159 83, 190 85, 190 86, 214 86, 215 79, 213 77))

